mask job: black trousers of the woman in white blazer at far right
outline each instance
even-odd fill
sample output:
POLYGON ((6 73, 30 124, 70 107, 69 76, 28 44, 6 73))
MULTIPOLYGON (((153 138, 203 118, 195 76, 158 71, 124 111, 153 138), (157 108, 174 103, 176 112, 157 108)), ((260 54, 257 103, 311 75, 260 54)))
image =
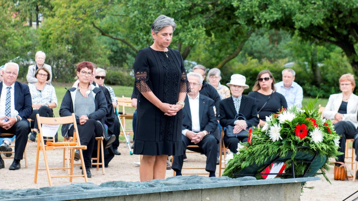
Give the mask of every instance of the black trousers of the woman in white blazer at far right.
POLYGON ((339 121, 334 124, 334 131, 341 136, 339 140, 339 151, 344 153, 343 155, 338 156, 337 161, 344 163, 345 142, 347 139, 354 139, 355 127, 351 122, 339 121))

